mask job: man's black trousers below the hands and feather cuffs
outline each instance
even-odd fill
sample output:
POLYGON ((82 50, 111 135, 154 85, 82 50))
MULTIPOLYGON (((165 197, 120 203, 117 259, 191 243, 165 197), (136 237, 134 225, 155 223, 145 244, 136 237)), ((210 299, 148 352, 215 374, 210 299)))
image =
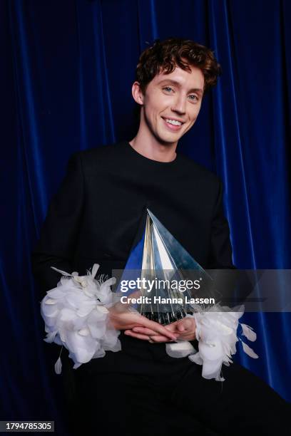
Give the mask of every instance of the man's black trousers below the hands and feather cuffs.
POLYGON ((224 382, 205 380, 165 343, 120 339, 122 351, 72 370, 70 435, 291 434, 290 404, 242 366, 223 365, 224 382))

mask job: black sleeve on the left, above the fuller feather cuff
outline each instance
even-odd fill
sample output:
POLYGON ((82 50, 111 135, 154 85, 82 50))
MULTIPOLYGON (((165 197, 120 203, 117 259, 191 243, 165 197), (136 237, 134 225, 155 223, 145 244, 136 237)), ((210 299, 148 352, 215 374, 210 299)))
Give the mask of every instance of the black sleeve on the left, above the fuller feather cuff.
POLYGON ((68 161, 66 177, 51 200, 41 229, 41 237, 32 254, 32 269, 41 294, 56 286, 63 271, 73 271, 73 256, 78 240, 84 202, 81 156, 76 153, 68 161))

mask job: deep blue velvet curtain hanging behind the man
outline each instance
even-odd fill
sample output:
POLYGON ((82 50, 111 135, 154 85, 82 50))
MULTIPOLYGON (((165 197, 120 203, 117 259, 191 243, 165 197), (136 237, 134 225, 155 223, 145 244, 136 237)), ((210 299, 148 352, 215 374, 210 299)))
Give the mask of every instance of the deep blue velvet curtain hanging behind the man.
MULTIPOLYGON (((1 1, 2 420, 65 434, 31 249, 68 157, 135 134, 131 84, 154 38, 204 43, 223 67, 179 150, 223 179, 236 266, 291 268, 290 29, 288 0, 1 1)), ((290 313, 244 321, 260 358, 236 359, 291 400, 290 313)))

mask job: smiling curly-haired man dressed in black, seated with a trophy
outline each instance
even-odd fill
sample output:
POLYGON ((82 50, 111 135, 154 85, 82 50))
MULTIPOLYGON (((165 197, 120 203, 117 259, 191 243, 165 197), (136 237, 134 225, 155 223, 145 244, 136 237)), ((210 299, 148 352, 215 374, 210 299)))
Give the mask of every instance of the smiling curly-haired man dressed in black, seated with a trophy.
MULTIPOLYGON (((222 184, 176 153, 219 73, 213 53, 193 41, 156 41, 142 53, 132 88, 141 108, 136 137, 73 155, 51 202, 33 257, 44 291, 59 280, 51 266, 80 274, 93 263, 103 273, 122 269, 146 207, 204 268, 233 267, 222 184)), ((85 424, 100 435, 287 434, 284 400, 240 365, 223 368, 221 386, 188 358, 165 353, 165 342, 195 340, 192 318, 161 326, 114 306, 110 317, 122 351, 73 371, 83 419, 76 434, 85 424)))

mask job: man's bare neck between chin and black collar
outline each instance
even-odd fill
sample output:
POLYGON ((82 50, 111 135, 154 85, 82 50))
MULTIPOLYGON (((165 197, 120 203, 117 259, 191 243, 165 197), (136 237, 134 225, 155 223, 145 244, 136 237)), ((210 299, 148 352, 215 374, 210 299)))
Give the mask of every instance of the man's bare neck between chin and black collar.
POLYGON ((136 152, 140 155, 148 157, 151 160, 158 162, 172 162, 176 157, 176 147, 178 142, 173 144, 163 144, 158 142, 155 137, 145 135, 141 130, 138 130, 136 137, 129 142, 136 152))

